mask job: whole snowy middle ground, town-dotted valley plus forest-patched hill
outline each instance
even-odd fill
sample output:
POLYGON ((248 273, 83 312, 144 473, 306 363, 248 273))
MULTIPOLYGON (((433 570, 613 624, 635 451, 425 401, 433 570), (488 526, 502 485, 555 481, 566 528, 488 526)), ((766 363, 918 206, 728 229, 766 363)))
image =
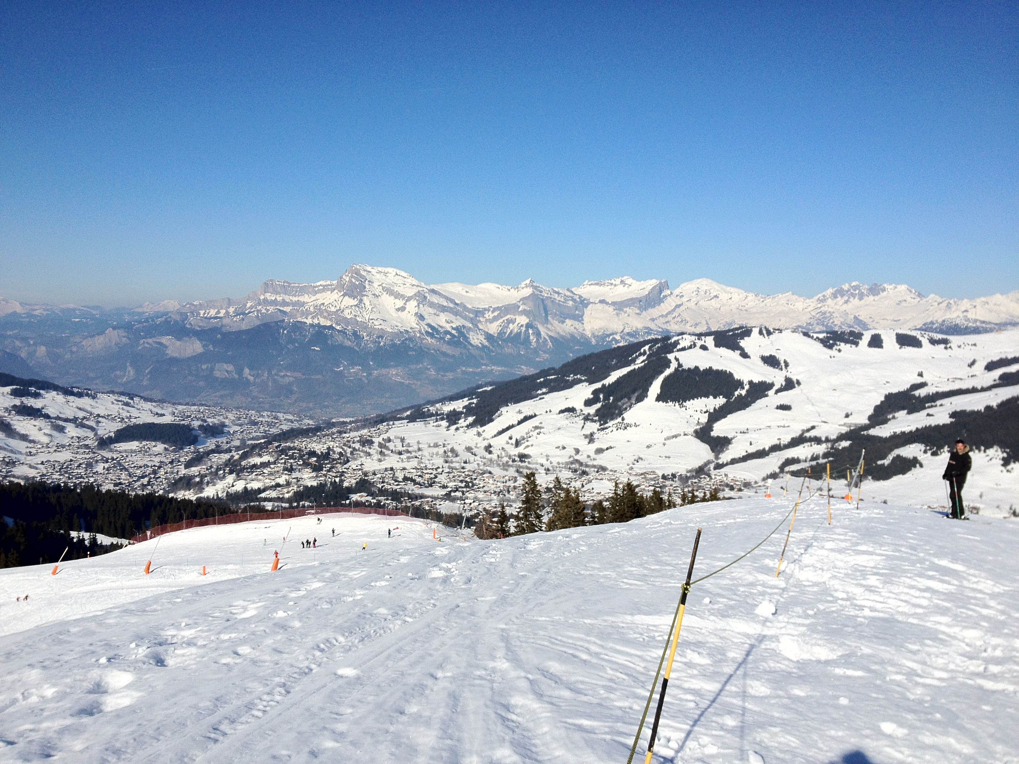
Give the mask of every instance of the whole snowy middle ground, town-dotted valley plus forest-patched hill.
POLYGON ((285 443, 269 436, 312 422, 107 394, 22 398, 0 387, 9 428, 0 432, 0 466, 18 479, 266 502, 366 478, 473 516, 500 501, 513 506, 532 470, 541 483, 559 477, 593 501, 615 481, 664 494, 698 476, 761 493, 777 481, 785 491, 787 471, 812 465, 816 477, 830 465, 843 495, 846 470, 866 449, 864 502, 938 506, 946 448, 963 437, 974 452, 966 503, 1003 516, 1019 512, 1017 374, 1017 329, 678 335, 397 410, 364 428, 323 423, 285 443), (25 402, 38 411, 19 407, 25 402), (96 431, 74 421, 87 416, 96 431), (160 420, 227 427, 183 450, 96 449, 97 434, 160 420))

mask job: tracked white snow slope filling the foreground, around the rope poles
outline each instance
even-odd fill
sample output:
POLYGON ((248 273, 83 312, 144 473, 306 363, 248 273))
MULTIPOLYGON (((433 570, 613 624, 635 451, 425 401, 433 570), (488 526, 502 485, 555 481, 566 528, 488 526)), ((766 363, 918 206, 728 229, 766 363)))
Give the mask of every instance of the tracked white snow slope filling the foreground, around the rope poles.
MULTIPOLYGON (((149 577, 155 542, 0 570, 0 762, 625 762, 696 528, 695 578, 791 503, 493 542, 326 515, 169 535, 149 577)), ((1019 762, 1019 525, 813 500, 776 579, 785 530, 693 587, 656 762, 1019 762)))

